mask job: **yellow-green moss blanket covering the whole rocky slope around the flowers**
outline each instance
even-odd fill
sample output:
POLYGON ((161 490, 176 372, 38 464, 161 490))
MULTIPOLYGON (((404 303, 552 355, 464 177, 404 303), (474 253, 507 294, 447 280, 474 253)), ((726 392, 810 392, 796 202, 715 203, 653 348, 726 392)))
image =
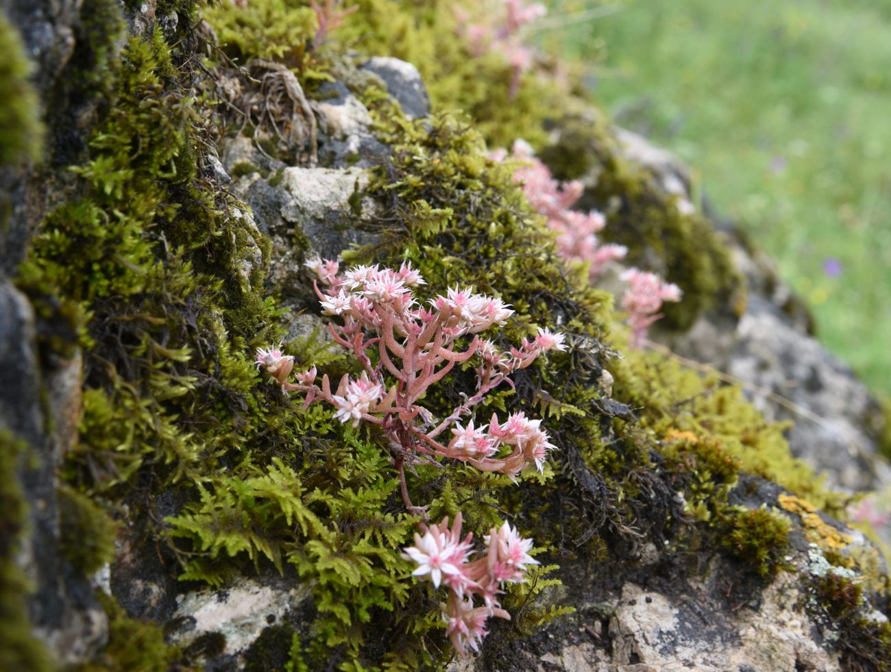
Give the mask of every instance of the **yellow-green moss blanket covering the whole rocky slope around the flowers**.
MULTIPOLYGON (((47 186, 53 207, 16 278, 37 311, 47 372, 78 351, 84 361, 78 434, 61 463, 61 546, 84 574, 109 566, 96 591, 110 626, 81 669, 397 670, 450 660, 441 595, 417 583, 400 555, 415 519, 401 504, 385 438, 333 421, 323 406, 301 409, 251 363, 254 348, 279 340, 298 318, 278 307, 286 297, 266 277, 276 259, 265 224, 259 212, 255 223, 239 190, 266 175, 271 189, 284 189, 281 159, 306 153, 287 141, 293 131, 304 142, 298 128, 275 126, 281 110, 269 105, 274 123, 257 128, 250 111, 235 109, 241 95, 268 95, 237 70, 251 59, 280 61, 316 110, 336 89, 368 111, 366 130, 384 152, 343 215, 361 220, 375 243, 344 250, 345 258, 409 259, 431 292, 460 283, 499 296, 517 311, 495 336, 504 343, 536 325, 567 333, 568 352, 519 372, 515 391, 484 409, 544 418, 560 450, 543 474, 516 485, 469 467, 454 466, 446 478, 419 466, 409 478, 432 519, 460 510, 476 536, 511 520, 535 537, 541 565, 503 596, 513 619, 493 627, 479 665, 522 668, 523 647, 552 651, 545 633, 573 645, 582 636, 593 642, 591 660, 601 660, 609 647, 598 632, 637 599, 625 595, 658 602, 654 594, 670 595, 674 577, 728 614, 752 595, 795 586, 813 598, 801 613, 843 637, 827 644, 832 660, 851 669, 887 665, 887 623, 867 611, 879 602, 853 579, 808 569, 801 540, 813 529, 782 506, 792 497, 805 513, 843 517, 846 498, 789 454, 782 426, 764 422, 740 389, 629 350, 609 294, 589 286, 584 269, 562 264, 510 168, 488 158, 490 148, 522 136, 560 177, 596 172, 588 198, 614 208, 616 240, 642 238, 631 246, 635 258, 655 254, 659 270, 683 285, 688 301, 671 317, 675 327, 730 300, 735 271, 706 221, 683 217, 626 165, 608 123, 578 114, 590 102, 542 83, 546 65, 527 73, 511 99, 504 62, 470 57, 446 2, 359 0, 325 35, 298 0, 158 3, 157 25, 142 6, 122 16, 117 4, 94 5, 107 12, 109 34, 126 18, 140 35, 115 41, 102 25, 82 24, 99 44, 78 61, 83 79, 71 86, 101 81, 109 99, 62 154, 67 177, 47 186), (364 56, 356 50, 413 61, 429 86, 429 118, 409 119, 358 69, 364 56), (244 88, 230 98, 235 80, 244 88), (227 176, 218 148, 239 134, 257 138, 261 156, 227 176), (365 199, 378 207, 364 211, 365 199), (145 594, 130 590, 137 579, 151 586, 145 594), (265 625, 243 651, 231 648, 232 633, 217 631, 180 645, 193 624, 177 615, 176 595, 223 603, 236 581, 300 586, 308 599, 282 618, 260 615, 265 625)), ((296 88, 288 90, 296 100, 296 88)), ((290 121, 300 123, 298 115, 290 121)), ((323 128, 322 142, 337 132, 323 128)), ((289 251, 299 259, 315 241, 300 217, 290 224, 289 251)), ((311 307, 307 275, 298 267, 290 274, 287 299, 302 290, 311 307)), ((320 334, 309 330, 286 351, 332 378, 352 373, 320 334)), ((454 373, 427 406, 444 413, 472 379, 470 368, 454 373)), ((0 447, 4 482, 14 484, 20 446, 0 434, 0 447)), ((20 493, 4 492, 20 511, 20 493)), ((21 533, 10 520, 0 551, 21 533)), ((851 544, 830 544, 828 528, 812 542, 827 566, 871 571, 851 544)), ((17 606, 26 591, 12 554, 0 556, 15 597, 4 613, 7 651, 48 668, 17 606)))

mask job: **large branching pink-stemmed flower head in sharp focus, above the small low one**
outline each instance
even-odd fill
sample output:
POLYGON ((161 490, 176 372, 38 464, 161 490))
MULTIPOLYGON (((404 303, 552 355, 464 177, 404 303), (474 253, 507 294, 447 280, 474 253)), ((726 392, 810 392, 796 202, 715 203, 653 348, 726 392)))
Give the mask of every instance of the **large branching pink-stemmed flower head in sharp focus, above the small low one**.
POLYGON ((356 266, 342 275, 336 261, 313 258, 306 266, 315 275, 323 313, 339 320, 339 324, 329 324, 332 338, 356 356, 364 372, 354 379, 343 376, 336 388, 327 375, 317 382, 315 367, 296 373, 296 381, 290 381, 293 358, 282 355, 278 348, 257 350, 257 366, 269 373, 285 394, 306 393, 305 406, 322 399, 335 407, 334 416, 340 422, 354 427, 360 422, 379 425, 389 438, 409 510, 422 512, 408 496, 405 462, 438 463, 450 458, 511 479, 527 465, 544 470, 554 446, 540 427, 541 421, 522 413, 503 422, 493 414, 479 427, 472 420, 459 421, 489 391, 502 383, 512 385, 511 373, 531 365, 545 352, 565 350, 562 334, 539 329, 535 338, 523 339, 519 346, 502 352, 491 340, 478 336, 489 327, 504 326, 513 315, 501 299, 451 288, 445 296, 437 295, 422 305, 414 290, 426 283, 409 264, 398 270, 356 266), (461 343, 467 339, 462 337, 470 338, 463 348, 461 343), (455 365, 473 356, 479 361, 475 394, 465 397, 437 423, 421 405, 421 398, 455 365), (446 430, 452 434, 447 442, 439 438, 446 430))

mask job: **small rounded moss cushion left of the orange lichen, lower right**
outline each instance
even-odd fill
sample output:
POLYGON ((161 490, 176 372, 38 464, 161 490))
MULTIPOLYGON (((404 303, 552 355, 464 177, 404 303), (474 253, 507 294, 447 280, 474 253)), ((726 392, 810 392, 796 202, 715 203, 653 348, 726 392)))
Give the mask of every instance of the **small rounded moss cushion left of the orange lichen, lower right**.
POLYGON ((747 561, 761 578, 772 578, 783 565, 792 523, 779 512, 743 509, 726 522, 722 545, 747 561))

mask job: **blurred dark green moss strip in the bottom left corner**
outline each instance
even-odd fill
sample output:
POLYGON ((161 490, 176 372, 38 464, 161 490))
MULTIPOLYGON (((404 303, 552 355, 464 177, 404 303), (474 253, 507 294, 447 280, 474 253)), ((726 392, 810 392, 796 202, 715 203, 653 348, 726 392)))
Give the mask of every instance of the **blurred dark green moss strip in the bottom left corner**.
POLYGON ((16 558, 28 525, 28 504, 19 486, 21 455, 26 445, 0 428, 0 669, 53 669, 43 643, 31 633, 28 579, 16 558))

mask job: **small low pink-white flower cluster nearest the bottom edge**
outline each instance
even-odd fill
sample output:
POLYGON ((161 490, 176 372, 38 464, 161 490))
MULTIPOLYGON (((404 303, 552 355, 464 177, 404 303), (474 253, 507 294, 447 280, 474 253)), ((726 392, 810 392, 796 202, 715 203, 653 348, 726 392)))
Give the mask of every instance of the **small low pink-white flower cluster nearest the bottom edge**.
POLYGON ((414 545, 405 549, 403 557, 417 563, 415 577, 429 580, 437 588, 440 584, 448 588, 446 602, 439 605, 446 634, 455 651, 465 655, 468 649, 479 650, 486 636, 487 619, 511 619, 501 608, 498 595, 505 583, 524 581, 527 565, 538 561, 529 555, 532 540, 520 537, 506 521, 484 537, 486 552, 471 561, 473 535, 462 539, 461 526, 458 513, 452 529, 445 518, 438 525, 430 525, 423 537, 415 533, 414 545), (482 603, 475 602, 475 597, 482 603))

